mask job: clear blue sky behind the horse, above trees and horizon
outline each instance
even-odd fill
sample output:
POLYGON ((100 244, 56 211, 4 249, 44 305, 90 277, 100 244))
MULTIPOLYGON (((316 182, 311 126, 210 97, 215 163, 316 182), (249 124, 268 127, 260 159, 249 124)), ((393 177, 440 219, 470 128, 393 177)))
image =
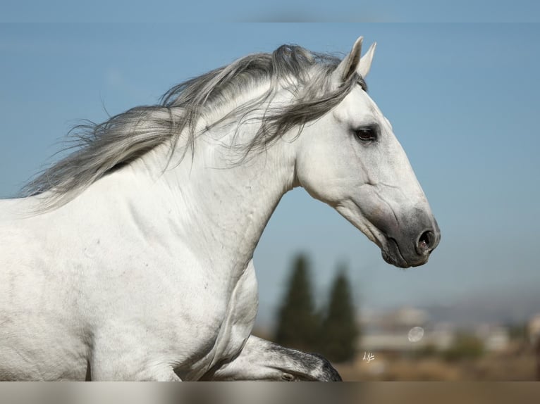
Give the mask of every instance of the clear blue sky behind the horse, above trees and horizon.
POLYGON ((173 84, 283 43, 347 52, 360 34, 378 42, 369 91, 429 198, 441 245, 427 265, 398 270, 338 213, 292 191, 255 252, 261 319, 297 251, 312 257, 320 296, 347 264, 364 307, 537 289, 540 25, 0 25, 0 196, 51 161, 76 120, 105 120, 104 107, 155 103, 173 84))

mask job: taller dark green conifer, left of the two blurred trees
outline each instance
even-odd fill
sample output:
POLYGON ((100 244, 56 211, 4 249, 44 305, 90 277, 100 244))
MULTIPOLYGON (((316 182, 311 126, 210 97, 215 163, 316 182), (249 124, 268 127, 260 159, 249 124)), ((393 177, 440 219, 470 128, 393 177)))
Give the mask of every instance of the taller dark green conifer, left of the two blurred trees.
POLYGON ((303 254, 293 260, 283 305, 278 310, 277 343, 288 348, 314 351, 319 317, 315 313, 309 262, 303 254))

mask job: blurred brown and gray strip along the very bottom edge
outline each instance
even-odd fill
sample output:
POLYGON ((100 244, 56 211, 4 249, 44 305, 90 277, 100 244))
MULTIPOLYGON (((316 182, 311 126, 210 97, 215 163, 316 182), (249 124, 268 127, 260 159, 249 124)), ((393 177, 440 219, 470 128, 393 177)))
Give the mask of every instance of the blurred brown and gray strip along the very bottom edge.
POLYGON ((418 404, 536 403, 538 383, 51 383, 0 386, 4 403, 418 404))

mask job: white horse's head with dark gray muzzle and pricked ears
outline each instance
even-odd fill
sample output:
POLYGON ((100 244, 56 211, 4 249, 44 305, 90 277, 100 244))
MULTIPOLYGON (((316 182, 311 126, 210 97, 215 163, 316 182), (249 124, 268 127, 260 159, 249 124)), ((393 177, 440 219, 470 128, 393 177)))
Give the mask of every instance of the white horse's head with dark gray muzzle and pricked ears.
POLYGON ((298 139, 297 181, 374 241, 386 262, 422 265, 441 234, 390 122, 367 94, 375 44, 362 58, 361 48, 362 37, 331 77, 334 87, 357 85, 298 139))

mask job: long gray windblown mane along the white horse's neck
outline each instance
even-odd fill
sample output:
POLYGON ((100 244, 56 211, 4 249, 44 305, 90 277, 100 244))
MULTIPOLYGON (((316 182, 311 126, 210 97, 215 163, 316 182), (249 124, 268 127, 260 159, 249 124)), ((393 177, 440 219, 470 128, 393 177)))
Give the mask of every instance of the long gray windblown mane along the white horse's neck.
MULTIPOLYGON (((243 156, 262 151, 293 128, 302 127, 336 106, 355 83, 364 89, 362 77, 353 75, 338 89, 331 87, 331 73, 339 58, 313 53, 296 45, 280 46, 273 53, 256 53, 176 85, 154 106, 138 106, 102 123, 86 121, 68 134, 68 149, 75 149, 23 188, 23 195, 52 191, 47 208, 63 205, 104 175, 121 169, 161 144, 170 144, 171 156, 180 137, 194 151, 197 122, 217 108, 226 106, 250 88, 270 84, 263 96, 237 106, 226 117, 207 125, 238 117, 239 125, 248 113, 256 111, 285 87, 293 102, 280 108, 267 108, 261 126, 243 156)), ((187 150, 186 148, 185 150, 187 150)), ((170 162, 164 162, 164 169, 170 162)))

